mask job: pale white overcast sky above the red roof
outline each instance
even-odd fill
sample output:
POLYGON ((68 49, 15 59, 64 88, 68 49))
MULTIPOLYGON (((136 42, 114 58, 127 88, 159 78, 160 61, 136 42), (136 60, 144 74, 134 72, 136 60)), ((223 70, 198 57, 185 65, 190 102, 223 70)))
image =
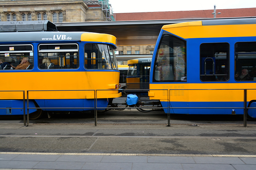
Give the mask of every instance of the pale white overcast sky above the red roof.
POLYGON ((109 0, 113 13, 256 8, 256 0, 109 0))

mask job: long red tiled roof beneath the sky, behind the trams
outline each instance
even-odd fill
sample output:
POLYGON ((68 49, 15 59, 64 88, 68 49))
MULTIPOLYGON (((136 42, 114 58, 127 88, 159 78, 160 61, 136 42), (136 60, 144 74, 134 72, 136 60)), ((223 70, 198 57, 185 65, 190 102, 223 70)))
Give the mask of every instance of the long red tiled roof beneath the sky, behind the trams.
MULTIPOLYGON (((239 8, 216 10, 216 18, 252 17, 256 16, 256 8, 239 8)), ((189 18, 214 18, 213 10, 166 11, 166 12, 135 12, 114 14, 116 21, 136 20, 175 20, 189 18)))

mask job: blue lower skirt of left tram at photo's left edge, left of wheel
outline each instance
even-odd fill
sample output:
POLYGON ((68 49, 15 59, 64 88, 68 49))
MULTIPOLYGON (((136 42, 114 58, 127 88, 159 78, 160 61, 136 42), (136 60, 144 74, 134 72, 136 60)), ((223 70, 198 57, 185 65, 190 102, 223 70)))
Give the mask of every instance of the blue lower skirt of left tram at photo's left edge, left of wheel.
MULTIPOLYGON (((28 103, 29 107, 36 107, 32 100, 28 103)), ((24 109, 14 109, 23 108, 23 100, 0 100, 0 115, 23 115, 24 109)), ((35 112, 36 109, 29 109, 29 113, 35 112)), ((27 114, 27 101, 25 102, 25 113, 27 114)))

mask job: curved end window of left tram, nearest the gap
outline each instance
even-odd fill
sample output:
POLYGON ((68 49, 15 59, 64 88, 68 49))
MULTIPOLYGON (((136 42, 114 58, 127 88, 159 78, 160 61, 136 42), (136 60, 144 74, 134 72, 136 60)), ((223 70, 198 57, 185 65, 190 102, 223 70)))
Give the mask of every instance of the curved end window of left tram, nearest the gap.
POLYGON ((106 44, 84 45, 84 64, 86 69, 118 69, 114 48, 106 44))

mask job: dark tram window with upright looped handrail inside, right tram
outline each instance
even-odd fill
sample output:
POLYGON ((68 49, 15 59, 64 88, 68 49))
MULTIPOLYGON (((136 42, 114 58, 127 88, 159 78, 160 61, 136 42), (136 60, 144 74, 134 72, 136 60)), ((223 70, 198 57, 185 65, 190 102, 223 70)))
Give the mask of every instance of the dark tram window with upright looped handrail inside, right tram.
POLYGON ((229 80, 229 44, 200 45, 200 80, 203 82, 229 80))

